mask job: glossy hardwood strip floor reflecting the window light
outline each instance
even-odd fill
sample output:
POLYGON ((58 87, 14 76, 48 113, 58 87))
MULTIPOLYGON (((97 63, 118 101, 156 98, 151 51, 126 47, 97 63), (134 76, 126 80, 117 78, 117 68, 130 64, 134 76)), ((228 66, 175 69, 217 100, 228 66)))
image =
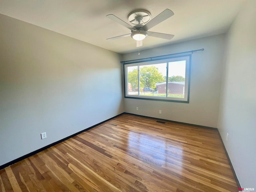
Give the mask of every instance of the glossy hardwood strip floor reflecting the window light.
POLYGON ((216 130, 122 114, 0 170, 1 192, 237 192, 216 130))

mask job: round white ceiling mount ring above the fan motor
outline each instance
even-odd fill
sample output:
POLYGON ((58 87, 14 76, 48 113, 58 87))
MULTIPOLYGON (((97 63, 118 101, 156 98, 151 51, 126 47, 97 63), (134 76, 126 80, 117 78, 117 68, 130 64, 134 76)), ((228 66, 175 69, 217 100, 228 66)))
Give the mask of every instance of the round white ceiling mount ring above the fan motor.
POLYGON ((133 25, 140 25, 140 24, 146 24, 151 19, 150 12, 146 10, 135 10, 133 12, 130 12, 127 16, 128 21, 130 24, 133 25))

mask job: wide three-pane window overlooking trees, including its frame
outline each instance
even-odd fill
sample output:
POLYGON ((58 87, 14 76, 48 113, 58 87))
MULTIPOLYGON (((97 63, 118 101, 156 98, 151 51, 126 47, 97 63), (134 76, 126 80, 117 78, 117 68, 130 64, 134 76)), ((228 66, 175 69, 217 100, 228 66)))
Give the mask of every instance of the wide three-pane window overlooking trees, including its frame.
POLYGON ((125 97, 189 102, 191 55, 124 64, 125 97))

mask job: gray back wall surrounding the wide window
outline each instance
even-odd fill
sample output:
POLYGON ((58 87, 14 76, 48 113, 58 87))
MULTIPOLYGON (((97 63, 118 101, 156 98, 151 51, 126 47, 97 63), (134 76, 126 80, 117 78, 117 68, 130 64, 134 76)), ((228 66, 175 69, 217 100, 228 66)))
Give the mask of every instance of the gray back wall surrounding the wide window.
POLYGON ((218 35, 145 51, 142 46, 140 55, 138 52, 122 55, 125 61, 205 49, 192 54, 189 103, 125 98, 125 112, 216 128, 224 42, 225 35, 218 35), (138 111, 136 107, 139 107, 138 111), (162 110, 162 114, 159 114, 159 110, 162 110))

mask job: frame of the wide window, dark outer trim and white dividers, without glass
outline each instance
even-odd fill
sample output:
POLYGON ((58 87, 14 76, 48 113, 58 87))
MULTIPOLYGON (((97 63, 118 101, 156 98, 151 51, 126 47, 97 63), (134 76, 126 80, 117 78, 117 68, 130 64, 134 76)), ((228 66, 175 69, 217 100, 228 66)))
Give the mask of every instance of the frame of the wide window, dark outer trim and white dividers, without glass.
POLYGON ((191 69, 191 54, 180 55, 180 56, 172 56, 168 58, 158 58, 158 59, 150 59, 143 60, 137 62, 124 63, 124 98, 132 98, 132 99, 142 99, 142 100, 155 100, 155 101, 167 101, 167 102, 181 102, 181 103, 189 103, 189 95, 190 95, 190 69, 191 69), (185 59, 184 59, 185 58, 185 59), (185 69, 185 95, 184 98, 174 98, 174 97, 160 97, 160 96, 142 96, 140 95, 140 66, 150 65, 150 64, 160 64, 166 62, 166 85, 168 86, 168 66, 169 62, 176 62, 186 60, 186 69, 185 69), (128 94, 128 70, 129 66, 138 66, 138 95, 128 94))

